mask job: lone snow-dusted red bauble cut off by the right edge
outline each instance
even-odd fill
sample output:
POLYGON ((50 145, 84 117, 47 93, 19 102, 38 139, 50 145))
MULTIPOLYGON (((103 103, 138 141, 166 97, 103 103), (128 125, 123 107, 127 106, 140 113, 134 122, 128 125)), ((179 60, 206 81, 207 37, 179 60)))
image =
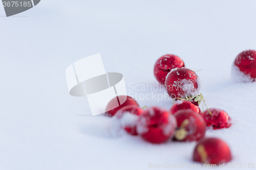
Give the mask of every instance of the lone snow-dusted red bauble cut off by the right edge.
POLYGON ((231 77, 237 82, 252 82, 256 79, 256 51, 240 53, 232 65, 231 77))

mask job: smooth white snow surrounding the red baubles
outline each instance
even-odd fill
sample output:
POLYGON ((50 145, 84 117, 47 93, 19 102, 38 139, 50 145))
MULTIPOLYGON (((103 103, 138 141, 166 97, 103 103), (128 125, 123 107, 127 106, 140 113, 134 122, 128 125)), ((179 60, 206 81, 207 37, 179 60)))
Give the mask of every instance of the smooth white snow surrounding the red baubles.
MULTIPOLYGON (((132 90, 129 83, 156 85, 153 66, 164 54, 202 69, 197 73, 208 107, 221 108, 233 119, 229 129, 209 130, 206 136, 230 145, 232 163, 256 163, 256 83, 230 79, 234 58, 256 49, 255 7, 256 1, 42 0, 5 17, 0 5, 0 169, 197 163, 191 160, 196 142, 113 138, 110 118, 76 116, 91 111, 86 98, 69 95, 65 70, 97 53, 106 71, 124 75, 130 94, 152 93, 132 90)), ((172 106, 168 99, 137 101, 141 107, 172 106)))

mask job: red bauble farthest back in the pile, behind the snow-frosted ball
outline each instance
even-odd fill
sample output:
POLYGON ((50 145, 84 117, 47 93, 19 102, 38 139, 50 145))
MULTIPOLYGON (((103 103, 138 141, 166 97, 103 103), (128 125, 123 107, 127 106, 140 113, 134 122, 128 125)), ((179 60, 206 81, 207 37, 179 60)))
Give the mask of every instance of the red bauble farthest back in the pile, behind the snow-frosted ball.
POLYGON ((166 54, 160 57, 154 66, 154 75, 157 81, 164 84, 165 77, 173 68, 185 67, 184 62, 178 56, 166 54))

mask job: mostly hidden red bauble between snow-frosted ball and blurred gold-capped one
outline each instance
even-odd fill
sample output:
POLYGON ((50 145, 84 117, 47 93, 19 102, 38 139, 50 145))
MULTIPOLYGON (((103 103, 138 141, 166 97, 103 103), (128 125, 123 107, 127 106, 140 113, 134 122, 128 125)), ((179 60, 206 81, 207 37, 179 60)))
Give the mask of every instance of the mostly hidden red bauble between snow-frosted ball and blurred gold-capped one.
POLYGON ((196 113, 201 114, 201 110, 198 106, 195 104, 189 102, 189 101, 177 101, 171 108, 170 108, 170 113, 174 114, 179 110, 182 109, 190 109, 196 113))

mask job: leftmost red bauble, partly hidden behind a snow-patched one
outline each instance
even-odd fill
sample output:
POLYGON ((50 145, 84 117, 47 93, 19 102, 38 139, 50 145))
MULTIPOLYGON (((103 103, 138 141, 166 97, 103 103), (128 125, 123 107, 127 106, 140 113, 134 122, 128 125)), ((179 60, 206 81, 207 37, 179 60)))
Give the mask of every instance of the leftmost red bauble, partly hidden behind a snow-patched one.
MULTIPOLYGON (((117 98, 118 98, 118 101, 124 101, 126 96, 125 95, 119 95, 119 96, 117 96, 117 98)), ((113 108, 113 106, 116 105, 117 98, 114 98, 114 99, 112 99, 109 102, 109 104, 106 106, 106 110, 109 110, 109 108, 113 108)), ((121 104, 120 106, 116 107, 115 109, 106 111, 105 115, 112 117, 112 116, 114 116, 116 114, 116 112, 119 109, 121 109, 124 106, 128 106, 128 105, 139 106, 138 103, 133 98, 131 98, 130 96, 127 96, 127 100, 123 104, 121 104)))

